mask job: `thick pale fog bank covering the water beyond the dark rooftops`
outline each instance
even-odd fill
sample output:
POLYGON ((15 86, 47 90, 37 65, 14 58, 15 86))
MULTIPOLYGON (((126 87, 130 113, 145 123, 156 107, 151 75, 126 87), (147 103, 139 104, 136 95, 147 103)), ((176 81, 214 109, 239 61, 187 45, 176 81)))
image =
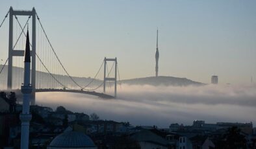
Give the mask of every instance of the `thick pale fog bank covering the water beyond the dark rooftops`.
MULTIPOLYGON (((112 89, 114 89, 112 87, 112 89)), ((166 128, 173 122, 195 119, 256 123, 256 85, 244 86, 128 86, 118 98, 102 99, 77 93, 36 93, 38 105, 64 106, 75 112, 97 113, 101 119, 129 121, 133 125, 166 128)))

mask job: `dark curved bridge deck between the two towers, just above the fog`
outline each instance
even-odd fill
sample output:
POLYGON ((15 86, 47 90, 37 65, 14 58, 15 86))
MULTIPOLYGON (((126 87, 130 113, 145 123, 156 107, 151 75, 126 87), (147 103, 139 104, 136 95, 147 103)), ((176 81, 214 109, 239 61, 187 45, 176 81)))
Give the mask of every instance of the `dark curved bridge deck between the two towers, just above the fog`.
POLYGON ((82 93, 87 95, 94 95, 100 98, 114 98, 111 95, 107 95, 104 93, 97 93, 96 91, 84 91, 84 90, 76 90, 76 89, 36 89, 36 92, 68 92, 68 93, 82 93))

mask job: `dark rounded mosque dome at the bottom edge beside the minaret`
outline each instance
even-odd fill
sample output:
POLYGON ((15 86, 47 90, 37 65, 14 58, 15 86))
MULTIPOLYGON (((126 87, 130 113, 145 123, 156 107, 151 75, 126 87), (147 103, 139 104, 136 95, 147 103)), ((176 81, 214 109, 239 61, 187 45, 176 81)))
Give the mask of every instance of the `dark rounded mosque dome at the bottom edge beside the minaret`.
POLYGON ((88 137, 81 132, 64 132, 60 135, 57 135, 53 141, 47 146, 47 149, 55 149, 55 148, 97 148, 88 137))

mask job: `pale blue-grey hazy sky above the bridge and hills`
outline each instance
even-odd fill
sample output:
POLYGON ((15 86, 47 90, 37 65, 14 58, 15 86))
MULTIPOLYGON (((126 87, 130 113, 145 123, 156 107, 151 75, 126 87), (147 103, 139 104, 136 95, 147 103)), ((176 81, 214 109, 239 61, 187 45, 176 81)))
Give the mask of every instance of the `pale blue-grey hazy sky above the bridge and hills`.
MULTIPOLYGON (((256 1, 10 1, 0 2, 0 21, 31 10, 73 76, 94 76, 105 56, 118 58, 122 79, 155 74, 221 84, 256 80, 256 1)), ((19 17, 25 20, 27 17, 19 17)), ((8 53, 8 19, 0 28, 0 59, 8 53)))

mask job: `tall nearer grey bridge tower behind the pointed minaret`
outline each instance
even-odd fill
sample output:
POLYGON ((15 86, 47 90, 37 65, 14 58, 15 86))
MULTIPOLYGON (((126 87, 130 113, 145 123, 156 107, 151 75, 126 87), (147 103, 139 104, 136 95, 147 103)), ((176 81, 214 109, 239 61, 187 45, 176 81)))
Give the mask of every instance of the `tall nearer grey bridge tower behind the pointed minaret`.
POLYGON ((13 49, 13 16, 32 16, 32 67, 31 67, 31 86, 32 86, 32 97, 31 105, 35 104, 35 87, 36 87, 36 10, 34 7, 32 11, 27 10, 13 10, 10 7, 9 12, 9 45, 8 45, 8 76, 7 76, 7 89, 12 89, 12 57, 13 56, 24 56, 23 50, 13 49))

